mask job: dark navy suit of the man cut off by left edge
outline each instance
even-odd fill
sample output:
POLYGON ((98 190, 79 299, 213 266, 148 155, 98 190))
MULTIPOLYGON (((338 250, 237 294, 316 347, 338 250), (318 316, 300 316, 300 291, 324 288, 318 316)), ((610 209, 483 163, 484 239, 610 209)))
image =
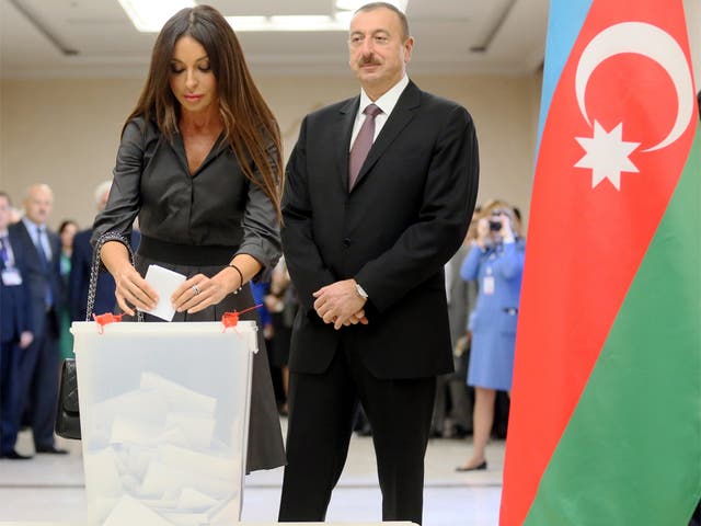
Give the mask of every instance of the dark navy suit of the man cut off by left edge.
MULTIPOLYGON (((8 238, 14 260, 9 264, 20 275, 26 276, 26 271, 22 267, 24 254, 21 253, 16 233, 10 231, 8 238)), ((5 271, 5 266, 4 260, 0 258, 0 271, 5 271)), ((20 348, 20 335, 33 330, 28 290, 24 278, 21 285, 5 285, 0 279, 0 455, 14 451, 20 430, 20 358, 24 352, 20 348)))

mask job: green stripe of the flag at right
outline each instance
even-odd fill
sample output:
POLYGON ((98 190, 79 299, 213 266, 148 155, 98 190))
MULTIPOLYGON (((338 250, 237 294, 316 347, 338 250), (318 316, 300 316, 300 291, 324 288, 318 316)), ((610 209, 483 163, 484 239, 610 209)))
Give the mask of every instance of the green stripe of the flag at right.
POLYGON ((525 524, 686 526, 700 498, 701 126, 525 524))

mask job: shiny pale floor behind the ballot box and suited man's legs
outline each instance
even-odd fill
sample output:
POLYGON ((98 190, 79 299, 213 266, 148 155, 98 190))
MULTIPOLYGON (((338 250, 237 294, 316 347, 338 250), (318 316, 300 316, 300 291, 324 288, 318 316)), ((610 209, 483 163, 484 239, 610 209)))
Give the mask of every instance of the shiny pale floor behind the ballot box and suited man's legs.
MULTIPOLYGON (((60 442, 68 456, 38 455, 32 460, 0 460, 0 524, 19 522, 82 523, 85 501, 79 442, 60 442)), ((467 459, 470 439, 434 439, 426 455, 424 526, 494 526, 498 523, 504 442, 487 450, 489 470, 455 472, 467 459)), ((18 450, 32 453, 22 433, 18 450)), ((246 477, 243 522, 274 522, 283 468, 246 477)), ((348 461, 334 491, 329 522, 379 522, 380 492, 370 438, 354 437, 348 461)), ((136 526, 136 525, 134 525, 136 526)))

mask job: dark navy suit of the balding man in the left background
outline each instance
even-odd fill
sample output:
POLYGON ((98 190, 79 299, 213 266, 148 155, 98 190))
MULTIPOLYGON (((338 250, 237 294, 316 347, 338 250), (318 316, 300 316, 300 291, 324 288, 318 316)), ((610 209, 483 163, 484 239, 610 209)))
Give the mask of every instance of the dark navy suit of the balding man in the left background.
POLYGON ((30 310, 34 341, 24 350, 20 359, 20 399, 31 403, 32 431, 37 448, 54 446, 54 424, 58 397, 58 328, 59 311, 65 297, 60 277, 60 239, 46 231, 51 259, 44 265, 34 241, 22 221, 10 226, 18 242, 18 251, 25 254, 24 278, 30 290, 30 310), (50 287, 53 305, 46 305, 46 288, 50 287))

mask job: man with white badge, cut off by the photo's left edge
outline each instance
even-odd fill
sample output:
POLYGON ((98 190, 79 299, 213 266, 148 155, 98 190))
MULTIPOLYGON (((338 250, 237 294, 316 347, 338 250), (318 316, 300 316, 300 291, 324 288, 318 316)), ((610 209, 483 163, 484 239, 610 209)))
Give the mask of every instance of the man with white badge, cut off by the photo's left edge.
POLYGON ((34 335, 20 243, 8 231, 11 209, 10 196, 0 191, 0 458, 26 460, 32 457, 16 453, 14 444, 22 410, 20 357, 34 335))

